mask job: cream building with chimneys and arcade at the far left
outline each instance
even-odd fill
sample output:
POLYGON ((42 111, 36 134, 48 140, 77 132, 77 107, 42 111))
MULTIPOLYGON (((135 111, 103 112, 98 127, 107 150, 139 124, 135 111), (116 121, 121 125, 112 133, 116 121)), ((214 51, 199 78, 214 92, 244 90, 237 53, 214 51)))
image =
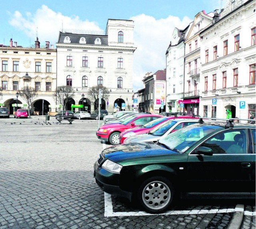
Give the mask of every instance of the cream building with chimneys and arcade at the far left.
MULTIPOLYGON (((10 45, 0 45, 0 106, 7 107, 10 114, 16 109, 16 92, 28 85, 37 90, 38 96, 31 105, 31 112, 45 114, 55 105, 52 91, 56 88, 56 49, 46 41, 40 47, 38 38, 35 47, 18 46, 10 39, 10 45), (44 110, 44 111, 43 111, 44 110)), ((18 97, 18 108, 28 108, 26 101, 18 97)), ((35 113, 34 113, 35 114, 35 113)))

